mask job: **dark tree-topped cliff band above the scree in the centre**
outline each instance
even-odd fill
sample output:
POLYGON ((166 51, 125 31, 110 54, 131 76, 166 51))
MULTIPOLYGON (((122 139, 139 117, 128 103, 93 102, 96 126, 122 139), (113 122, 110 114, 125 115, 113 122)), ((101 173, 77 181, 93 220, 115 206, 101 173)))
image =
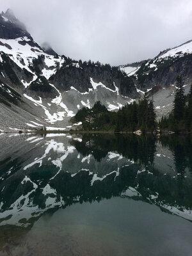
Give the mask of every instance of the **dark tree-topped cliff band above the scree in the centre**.
POLYGON ((49 81, 61 90, 76 88, 79 92, 89 92, 93 88, 90 77, 95 83, 102 83, 107 88, 115 91, 118 87, 119 93, 124 96, 138 97, 134 81, 122 74, 118 67, 101 65, 99 62, 72 61, 66 59, 63 66, 52 76, 49 81))

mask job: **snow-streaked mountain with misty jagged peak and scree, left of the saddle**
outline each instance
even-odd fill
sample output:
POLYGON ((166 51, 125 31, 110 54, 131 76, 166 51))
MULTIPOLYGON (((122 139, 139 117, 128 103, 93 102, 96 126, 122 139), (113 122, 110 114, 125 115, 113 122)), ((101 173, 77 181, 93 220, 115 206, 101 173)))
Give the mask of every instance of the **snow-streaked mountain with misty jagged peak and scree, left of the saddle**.
POLYGON ((1 13, 2 131, 42 125, 68 129, 69 118, 96 100, 108 109, 118 109, 131 95, 138 97, 129 80, 118 68, 59 56, 47 44, 40 47, 11 10, 1 13))

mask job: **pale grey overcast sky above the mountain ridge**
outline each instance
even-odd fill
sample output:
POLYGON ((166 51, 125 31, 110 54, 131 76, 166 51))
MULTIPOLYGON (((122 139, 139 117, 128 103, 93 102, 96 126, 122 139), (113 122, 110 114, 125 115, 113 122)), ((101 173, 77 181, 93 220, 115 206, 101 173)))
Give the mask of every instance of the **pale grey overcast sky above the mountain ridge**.
POLYGON ((0 0, 6 8, 75 59, 131 63, 192 39, 192 0, 0 0))

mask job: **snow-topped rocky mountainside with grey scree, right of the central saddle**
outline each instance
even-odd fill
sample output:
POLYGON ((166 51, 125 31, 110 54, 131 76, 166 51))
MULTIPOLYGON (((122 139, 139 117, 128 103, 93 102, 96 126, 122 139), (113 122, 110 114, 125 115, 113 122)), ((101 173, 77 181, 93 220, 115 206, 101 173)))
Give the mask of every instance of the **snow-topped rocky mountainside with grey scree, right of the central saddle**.
POLYGON ((151 60, 122 65, 120 70, 134 79, 138 93, 153 95, 157 118, 160 118, 172 110, 178 75, 182 76, 185 92, 189 92, 192 83, 192 40, 161 51, 151 60))

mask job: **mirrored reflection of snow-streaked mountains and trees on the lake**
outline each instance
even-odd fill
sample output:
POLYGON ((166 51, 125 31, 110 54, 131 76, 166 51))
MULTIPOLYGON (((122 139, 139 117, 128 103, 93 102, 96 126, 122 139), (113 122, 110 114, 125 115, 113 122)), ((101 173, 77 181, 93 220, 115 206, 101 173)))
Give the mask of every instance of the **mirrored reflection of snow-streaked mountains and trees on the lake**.
POLYGON ((15 241, 18 234, 25 236, 45 214, 59 214, 60 208, 67 214, 75 204, 95 207, 94 202, 101 205, 109 198, 111 202, 121 198, 118 204, 132 198, 192 220, 189 137, 2 134, 0 138, 0 255, 16 255, 10 237, 15 241))

